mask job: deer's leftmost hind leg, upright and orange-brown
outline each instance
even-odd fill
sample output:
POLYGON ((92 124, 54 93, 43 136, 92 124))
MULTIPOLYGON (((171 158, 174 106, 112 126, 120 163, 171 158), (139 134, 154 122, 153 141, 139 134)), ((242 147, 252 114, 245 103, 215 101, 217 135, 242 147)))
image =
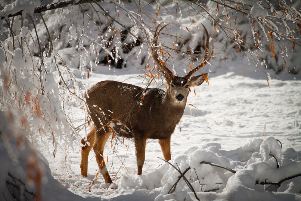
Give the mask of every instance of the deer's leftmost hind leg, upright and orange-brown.
POLYGON ((82 161, 80 164, 80 174, 84 177, 88 175, 88 156, 89 156, 89 152, 92 149, 92 146, 95 143, 95 135, 96 135, 96 128, 93 125, 92 130, 87 136, 87 141, 90 143, 90 145, 88 145, 85 142, 85 140, 82 139, 82 144, 85 144, 85 146, 82 147, 82 161))

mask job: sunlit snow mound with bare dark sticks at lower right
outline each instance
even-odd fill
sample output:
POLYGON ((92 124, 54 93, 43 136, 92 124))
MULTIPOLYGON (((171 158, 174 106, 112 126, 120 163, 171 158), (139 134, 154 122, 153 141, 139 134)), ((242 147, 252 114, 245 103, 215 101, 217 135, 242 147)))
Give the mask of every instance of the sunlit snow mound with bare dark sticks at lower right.
POLYGON ((139 196, 156 201, 301 200, 300 194, 293 194, 301 189, 301 161, 288 159, 292 156, 296 156, 293 148, 282 152, 281 144, 271 136, 231 151, 216 143, 194 146, 154 171, 124 175, 114 199, 137 196, 139 189, 139 196))

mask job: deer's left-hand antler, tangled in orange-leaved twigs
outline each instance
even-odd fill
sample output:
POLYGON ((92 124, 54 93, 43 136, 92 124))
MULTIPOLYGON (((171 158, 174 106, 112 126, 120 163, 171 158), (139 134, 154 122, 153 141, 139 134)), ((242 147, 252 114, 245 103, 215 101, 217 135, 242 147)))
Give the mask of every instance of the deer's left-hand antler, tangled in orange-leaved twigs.
MULTIPOLYGON (((153 59, 155 61, 155 63, 160 66, 163 71, 166 73, 167 77, 174 77, 173 73, 167 68, 167 64, 165 62, 163 62, 160 58, 159 55, 157 53, 157 44, 158 44, 158 37, 161 33, 161 31, 169 24, 164 25, 163 27, 161 27, 161 29, 158 31, 158 28, 160 27, 162 23, 160 23, 155 30, 155 34, 154 34, 154 40, 153 40, 153 44, 156 44, 156 47, 151 46, 151 52, 152 52, 152 56, 153 59)), ((158 70, 160 71, 160 69, 158 68, 158 70)))

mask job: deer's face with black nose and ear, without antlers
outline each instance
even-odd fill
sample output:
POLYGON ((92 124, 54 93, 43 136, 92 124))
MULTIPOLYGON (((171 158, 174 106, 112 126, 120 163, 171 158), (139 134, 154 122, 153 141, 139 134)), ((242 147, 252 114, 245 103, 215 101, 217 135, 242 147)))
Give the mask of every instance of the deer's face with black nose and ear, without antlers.
MULTIPOLYGON (((206 76, 208 74, 205 74, 206 76)), ((186 104, 189 94, 189 87, 200 86, 204 82, 203 75, 195 75, 190 78, 175 76, 174 78, 166 78, 168 89, 166 93, 175 103, 186 104)))

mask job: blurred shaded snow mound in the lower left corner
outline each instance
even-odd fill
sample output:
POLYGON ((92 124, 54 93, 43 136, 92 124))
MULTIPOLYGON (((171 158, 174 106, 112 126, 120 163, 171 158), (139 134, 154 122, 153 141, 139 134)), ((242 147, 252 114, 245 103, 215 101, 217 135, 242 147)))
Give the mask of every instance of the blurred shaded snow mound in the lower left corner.
POLYGON ((16 126, 17 118, 0 111, 0 200, 83 199, 53 178, 47 160, 16 126))

